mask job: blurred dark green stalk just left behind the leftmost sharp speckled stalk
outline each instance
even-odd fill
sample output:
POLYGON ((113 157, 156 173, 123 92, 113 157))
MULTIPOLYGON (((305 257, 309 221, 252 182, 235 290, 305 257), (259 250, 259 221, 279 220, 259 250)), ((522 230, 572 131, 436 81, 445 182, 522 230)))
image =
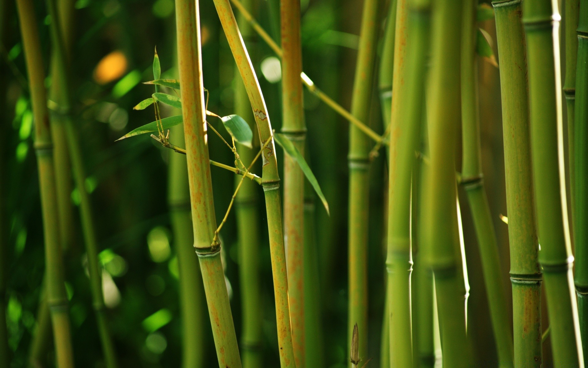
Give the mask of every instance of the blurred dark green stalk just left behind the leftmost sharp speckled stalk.
MULTIPOLYGON (((179 125, 172 127, 171 136, 183 142, 183 128, 179 125)), ((188 164, 185 155, 171 154, 169 157, 168 205, 179 267, 182 367, 203 367, 206 353, 206 307, 202 274, 193 247, 188 164)))

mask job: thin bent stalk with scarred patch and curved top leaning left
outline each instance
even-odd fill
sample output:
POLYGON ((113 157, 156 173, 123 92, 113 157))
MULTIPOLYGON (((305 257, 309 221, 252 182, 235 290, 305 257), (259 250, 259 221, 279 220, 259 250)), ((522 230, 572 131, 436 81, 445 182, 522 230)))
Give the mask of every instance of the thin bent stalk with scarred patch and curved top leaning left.
POLYGON ((263 149, 262 187, 265 194, 266 215, 268 218, 269 247, 272 259, 273 289, 276 302, 276 319, 278 324, 278 344, 280 364, 282 367, 294 367, 290 311, 288 305, 288 279, 286 277, 286 257, 282 233, 282 204, 279 192, 278 163, 272 138, 272 125, 268 110, 259 88, 259 82, 249 60, 249 55, 239 34, 235 15, 229 0, 215 0, 216 11, 225 31, 230 49, 253 109, 260 142, 268 141, 263 149))

